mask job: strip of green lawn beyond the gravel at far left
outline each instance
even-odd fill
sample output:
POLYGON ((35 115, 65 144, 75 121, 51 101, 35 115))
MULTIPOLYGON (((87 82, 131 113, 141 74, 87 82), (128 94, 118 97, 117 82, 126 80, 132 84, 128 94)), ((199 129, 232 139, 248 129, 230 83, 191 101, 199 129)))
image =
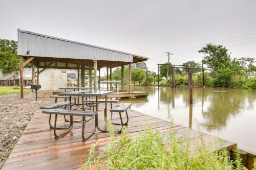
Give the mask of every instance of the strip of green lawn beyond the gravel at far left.
MULTIPOLYGON (((31 89, 24 89, 24 94, 27 94, 31 89)), ((20 94, 19 86, 0 86, 0 96, 13 96, 20 94)))

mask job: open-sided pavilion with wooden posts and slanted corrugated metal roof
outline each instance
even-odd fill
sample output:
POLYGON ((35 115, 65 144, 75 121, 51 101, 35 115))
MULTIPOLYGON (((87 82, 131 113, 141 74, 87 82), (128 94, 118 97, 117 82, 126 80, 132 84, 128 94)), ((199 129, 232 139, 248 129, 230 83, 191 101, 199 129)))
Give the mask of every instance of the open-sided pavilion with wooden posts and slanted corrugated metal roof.
MULTIPOLYGON (((100 80, 100 68, 106 67, 106 79, 112 80, 112 68, 121 66, 121 90, 124 91, 124 65, 129 65, 129 93, 131 93, 132 63, 148 60, 147 57, 135 54, 19 29, 17 51, 20 61, 20 82, 23 82, 23 67, 32 63, 32 80, 36 67, 37 83, 39 74, 46 68, 77 69, 78 72, 81 71, 81 87, 84 87, 84 72, 88 69, 89 86, 92 87, 94 82, 94 90, 97 90, 97 70, 100 80), (93 80, 92 70, 94 70, 93 80)), ((79 82, 79 78, 77 80, 79 82)), ((20 83, 20 97, 23 96, 23 83, 20 83)))

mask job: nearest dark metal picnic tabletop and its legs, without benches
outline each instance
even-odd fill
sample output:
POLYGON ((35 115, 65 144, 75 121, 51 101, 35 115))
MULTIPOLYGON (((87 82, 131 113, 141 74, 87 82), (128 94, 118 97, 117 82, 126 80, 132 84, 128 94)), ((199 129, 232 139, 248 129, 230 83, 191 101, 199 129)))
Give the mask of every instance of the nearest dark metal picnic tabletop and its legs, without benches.
MULTIPOLYGON (((106 117, 106 95, 108 94, 112 94, 114 93, 115 91, 82 91, 82 90, 77 90, 77 91, 69 91, 69 92, 61 92, 61 93, 58 93, 58 95, 60 96, 69 96, 70 98, 70 109, 72 109, 72 103, 71 103, 71 96, 82 96, 82 99, 84 97, 91 97, 91 96, 94 96, 96 97, 96 112, 98 112, 98 97, 99 96, 105 96, 105 109, 104 109, 104 121, 107 123, 107 117, 106 117)), ((82 106, 83 106, 83 100, 82 100, 82 106)), ((96 124, 96 127, 99 131, 101 132, 108 132, 108 131, 105 131, 105 130, 102 130, 99 128, 98 126, 98 116, 95 117, 95 122, 97 122, 96 124)))

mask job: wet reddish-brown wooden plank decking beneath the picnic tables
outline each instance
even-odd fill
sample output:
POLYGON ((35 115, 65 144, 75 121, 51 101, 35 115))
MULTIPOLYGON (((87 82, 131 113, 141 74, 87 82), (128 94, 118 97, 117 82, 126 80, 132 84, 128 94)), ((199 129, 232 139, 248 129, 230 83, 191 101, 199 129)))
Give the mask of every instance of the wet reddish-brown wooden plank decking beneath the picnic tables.
MULTIPOLYGON (((47 105, 54 103, 53 98, 49 98, 49 92, 40 91, 39 95, 48 96, 42 98, 40 105, 47 105)), ((32 97, 33 94, 30 94, 32 97)), ((99 126, 101 128, 106 127, 103 120, 104 105, 99 105, 99 126)), ((109 108, 108 108, 109 111, 109 108)), ((30 123, 25 129, 23 135, 15 145, 11 155, 5 162, 2 170, 13 169, 79 169, 82 164, 87 160, 91 145, 98 141, 98 151, 102 151, 104 145, 110 140, 108 133, 96 132, 89 140, 82 142, 81 138, 81 124, 75 123, 71 133, 65 137, 54 139, 53 130, 49 129, 48 114, 42 114, 41 109, 37 109, 33 115, 30 123)), ((109 113, 109 112, 108 112, 109 113)), ((134 110, 128 111, 129 120, 129 132, 134 136, 138 135, 139 130, 147 124, 153 129, 156 128, 161 132, 170 131, 169 123, 165 120, 158 119, 134 110), (146 120, 146 121, 145 121, 146 120)), ((117 114, 113 116, 113 122, 119 122, 117 114)), ((53 116, 52 116, 53 117, 53 116)), ((75 118, 76 120, 80 118, 75 118)), ((53 120, 52 120, 53 122, 53 120)), ((58 118, 58 125, 64 123, 62 116, 58 118)), ((86 131, 93 129, 94 121, 90 121, 86 124, 86 131)), ((119 128, 118 126, 116 127, 119 128)), ((182 132, 189 132, 189 139, 191 142, 198 141, 202 136, 206 142, 214 142, 218 139, 215 136, 200 133, 196 130, 190 130, 189 128, 174 125, 178 134, 182 132)), ((236 147, 236 143, 226 141, 225 146, 228 150, 236 147)))

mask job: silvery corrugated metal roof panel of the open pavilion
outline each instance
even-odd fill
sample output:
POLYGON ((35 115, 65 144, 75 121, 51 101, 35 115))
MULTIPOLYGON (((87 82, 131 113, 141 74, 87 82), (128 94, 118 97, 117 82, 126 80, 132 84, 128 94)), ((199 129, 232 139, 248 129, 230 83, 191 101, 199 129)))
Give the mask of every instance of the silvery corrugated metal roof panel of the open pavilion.
POLYGON ((138 56, 24 30, 18 30, 18 55, 120 62, 133 62, 133 57, 138 56))

